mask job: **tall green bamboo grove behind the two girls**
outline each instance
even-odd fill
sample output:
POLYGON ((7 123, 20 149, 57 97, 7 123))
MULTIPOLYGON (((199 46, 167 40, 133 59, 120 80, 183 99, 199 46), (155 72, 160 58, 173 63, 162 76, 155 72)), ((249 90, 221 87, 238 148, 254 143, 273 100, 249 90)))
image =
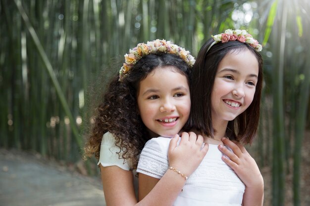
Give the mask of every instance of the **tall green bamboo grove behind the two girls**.
MULTIPOLYGON (((0 0, 0 147, 77 163, 91 102, 101 95, 90 88, 119 70, 106 70, 114 57, 154 39, 196 56, 211 34, 247 29, 263 43, 257 162, 272 167, 272 205, 283 206, 291 188, 300 206, 301 152, 310 138, 309 12, 308 0, 0 0)), ((96 171, 94 160, 86 165, 96 171)))

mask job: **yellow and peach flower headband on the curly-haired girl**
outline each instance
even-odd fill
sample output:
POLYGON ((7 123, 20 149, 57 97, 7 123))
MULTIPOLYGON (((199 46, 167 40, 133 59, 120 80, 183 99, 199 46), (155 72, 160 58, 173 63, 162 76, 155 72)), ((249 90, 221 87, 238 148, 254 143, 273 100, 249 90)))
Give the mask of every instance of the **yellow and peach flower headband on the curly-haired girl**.
POLYGON ((128 75, 130 69, 143 56, 156 53, 169 53, 181 57, 190 67, 193 67, 195 58, 184 48, 165 40, 148 41, 139 43, 135 48, 129 49, 129 54, 125 54, 125 63, 119 70, 119 81, 122 82, 128 75))

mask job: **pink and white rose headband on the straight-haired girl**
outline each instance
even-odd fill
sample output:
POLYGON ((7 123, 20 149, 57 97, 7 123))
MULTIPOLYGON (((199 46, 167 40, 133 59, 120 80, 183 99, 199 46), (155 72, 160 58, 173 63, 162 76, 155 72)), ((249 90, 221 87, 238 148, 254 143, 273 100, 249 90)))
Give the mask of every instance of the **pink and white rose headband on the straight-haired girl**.
POLYGON ((228 41, 240 41, 244 43, 250 44, 253 48, 255 48, 257 51, 261 51, 262 46, 258 43, 256 39, 252 37, 246 30, 231 30, 227 29, 225 33, 218 34, 215 36, 211 36, 214 40, 214 42, 208 47, 207 51, 217 42, 228 42, 228 41))

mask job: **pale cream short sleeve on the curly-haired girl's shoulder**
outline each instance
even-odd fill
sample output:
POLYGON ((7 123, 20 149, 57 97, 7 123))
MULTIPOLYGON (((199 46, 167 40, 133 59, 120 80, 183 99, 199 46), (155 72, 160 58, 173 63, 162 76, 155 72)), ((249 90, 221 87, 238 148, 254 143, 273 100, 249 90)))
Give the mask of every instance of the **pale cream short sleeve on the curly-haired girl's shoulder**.
POLYGON ((119 158, 122 156, 122 152, 118 154, 119 151, 120 148, 115 146, 115 138, 113 134, 106 132, 103 134, 103 139, 101 142, 98 165, 118 166, 124 170, 131 170, 131 166, 128 162, 124 162, 124 159, 119 158))

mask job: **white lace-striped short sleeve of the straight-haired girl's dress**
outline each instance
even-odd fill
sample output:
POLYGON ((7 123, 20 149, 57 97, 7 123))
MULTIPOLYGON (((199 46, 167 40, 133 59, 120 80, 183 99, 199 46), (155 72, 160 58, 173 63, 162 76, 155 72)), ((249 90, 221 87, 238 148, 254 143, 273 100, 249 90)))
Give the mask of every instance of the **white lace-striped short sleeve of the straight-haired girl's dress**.
POLYGON ((156 137, 144 146, 137 172, 160 179, 168 169, 168 147, 171 138, 156 137))

